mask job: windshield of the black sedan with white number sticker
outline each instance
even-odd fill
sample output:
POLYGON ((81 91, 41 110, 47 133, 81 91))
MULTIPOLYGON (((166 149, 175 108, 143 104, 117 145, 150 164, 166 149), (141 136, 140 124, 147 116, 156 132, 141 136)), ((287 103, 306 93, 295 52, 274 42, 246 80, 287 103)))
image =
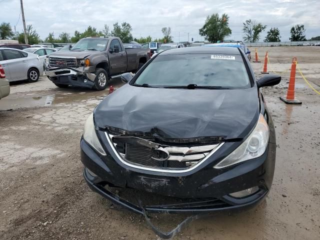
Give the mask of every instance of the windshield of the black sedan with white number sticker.
POLYGON ((249 88, 250 80, 241 55, 158 55, 135 79, 134 85, 174 87, 249 88))

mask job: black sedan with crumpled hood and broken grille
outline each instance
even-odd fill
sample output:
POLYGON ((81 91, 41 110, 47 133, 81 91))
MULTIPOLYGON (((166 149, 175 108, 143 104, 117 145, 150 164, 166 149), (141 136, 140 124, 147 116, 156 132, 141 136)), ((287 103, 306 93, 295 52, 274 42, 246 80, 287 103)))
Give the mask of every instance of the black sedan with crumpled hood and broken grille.
POLYGON ((275 133, 260 87, 234 47, 163 51, 105 97, 80 141, 90 188, 130 210, 210 212, 253 206, 268 194, 275 133), (108 186, 180 199, 146 206, 108 186))

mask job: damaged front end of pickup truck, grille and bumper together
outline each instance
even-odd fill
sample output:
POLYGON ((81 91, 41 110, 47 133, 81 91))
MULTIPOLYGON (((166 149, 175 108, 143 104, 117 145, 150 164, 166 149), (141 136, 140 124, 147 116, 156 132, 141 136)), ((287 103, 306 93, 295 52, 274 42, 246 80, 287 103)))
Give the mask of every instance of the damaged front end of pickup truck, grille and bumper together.
POLYGON ((44 73, 56 84, 92 87, 96 75, 95 66, 82 66, 75 57, 50 55, 44 61, 44 73), (54 66, 50 64, 54 60, 54 66), (60 65, 60 66, 58 66, 60 65))

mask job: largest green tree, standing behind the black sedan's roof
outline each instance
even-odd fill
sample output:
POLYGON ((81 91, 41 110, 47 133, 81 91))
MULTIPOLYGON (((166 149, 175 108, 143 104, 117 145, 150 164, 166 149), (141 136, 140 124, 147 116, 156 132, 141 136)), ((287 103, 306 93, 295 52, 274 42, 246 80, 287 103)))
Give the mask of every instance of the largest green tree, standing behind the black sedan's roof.
POLYGON ((223 41, 224 37, 231 33, 229 17, 225 13, 221 17, 218 13, 207 16, 204 25, 199 29, 199 34, 209 42, 223 41))

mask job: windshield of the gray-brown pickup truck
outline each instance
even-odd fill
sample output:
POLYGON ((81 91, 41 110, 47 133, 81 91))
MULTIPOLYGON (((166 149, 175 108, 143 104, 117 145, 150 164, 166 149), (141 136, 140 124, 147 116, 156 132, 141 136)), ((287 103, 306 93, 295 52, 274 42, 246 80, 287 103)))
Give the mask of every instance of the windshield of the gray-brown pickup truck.
POLYGON ((71 50, 97 50, 97 51, 104 51, 106 45, 108 43, 107 38, 103 37, 96 37, 96 38, 82 38, 74 46, 71 50))

